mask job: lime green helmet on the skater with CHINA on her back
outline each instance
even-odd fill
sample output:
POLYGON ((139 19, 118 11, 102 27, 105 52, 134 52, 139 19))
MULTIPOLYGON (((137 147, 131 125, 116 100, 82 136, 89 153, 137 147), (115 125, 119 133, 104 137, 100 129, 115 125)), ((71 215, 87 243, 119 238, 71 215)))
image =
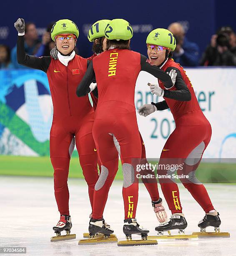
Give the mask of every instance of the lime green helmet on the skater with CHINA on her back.
POLYGON ((133 37, 133 29, 127 20, 111 20, 105 28, 105 37, 109 40, 129 40, 133 37))

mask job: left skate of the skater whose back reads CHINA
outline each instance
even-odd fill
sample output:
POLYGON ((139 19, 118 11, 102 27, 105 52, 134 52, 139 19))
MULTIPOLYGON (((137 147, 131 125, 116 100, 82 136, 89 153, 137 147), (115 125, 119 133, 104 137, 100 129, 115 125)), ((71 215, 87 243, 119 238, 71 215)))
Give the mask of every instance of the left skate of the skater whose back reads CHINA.
POLYGON ((110 225, 107 225, 105 223, 104 219, 95 220, 91 218, 88 231, 88 239, 81 239, 78 243, 79 245, 117 242, 117 238, 115 235, 110 237, 114 230, 110 228, 110 225))

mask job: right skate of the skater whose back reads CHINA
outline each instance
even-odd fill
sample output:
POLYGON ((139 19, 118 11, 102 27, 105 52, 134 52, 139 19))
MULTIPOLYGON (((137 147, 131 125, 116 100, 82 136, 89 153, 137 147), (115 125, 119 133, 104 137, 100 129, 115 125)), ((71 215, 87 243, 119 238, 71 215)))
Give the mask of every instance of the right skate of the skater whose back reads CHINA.
POLYGON ((126 235, 126 241, 119 241, 118 246, 137 246, 137 245, 154 245, 156 240, 148 240, 149 230, 143 228, 137 223, 136 219, 124 220, 123 232, 126 235), (132 240, 132 235, 140 235, 141 240, 132 240))

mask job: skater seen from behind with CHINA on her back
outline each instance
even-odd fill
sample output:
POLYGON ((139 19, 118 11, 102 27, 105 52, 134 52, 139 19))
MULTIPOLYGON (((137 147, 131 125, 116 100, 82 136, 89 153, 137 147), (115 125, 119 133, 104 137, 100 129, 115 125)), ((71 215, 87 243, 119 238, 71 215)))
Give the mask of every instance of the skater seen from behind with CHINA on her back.
POLYGON ((105 28, 106 41, 103 40, 106 51, 93 58, 77 88, 78 97, 90 93, 90 84, 96 78, 99 97, 93 138, 101 161, 101 174, 95 185, 90 235, 113 233, 113 230, 105 226, 103 219, 108 192, 118 169, 117 151, 110 134, 115 136, 121 150, 125 208, 123 232, 126 237, 135 233, 145 237, 149 233, 135 219, 138 202, 136 164, 140 163, 142 147, 136 120, 134 89, 141 70, 161 79, 168 87, 173 86, 173 82, 168 74, 147 63, 145 56, 130 50, 132 36, 133 30, 126 20, 111 20, 105 28))

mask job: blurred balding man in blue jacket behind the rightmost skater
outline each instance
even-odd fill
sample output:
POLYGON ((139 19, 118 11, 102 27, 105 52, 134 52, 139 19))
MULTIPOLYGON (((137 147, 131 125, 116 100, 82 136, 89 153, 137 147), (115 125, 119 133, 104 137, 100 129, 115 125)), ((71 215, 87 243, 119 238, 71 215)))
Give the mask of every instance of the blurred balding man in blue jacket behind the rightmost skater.
POLYGON ((199 47, 197 44, 188 41, 181 23, 174 22, 168 26, 168 30, 176 38, 176 49, 173 52, 173 59, 184 67, 195 67, 199 61, 199 47))

